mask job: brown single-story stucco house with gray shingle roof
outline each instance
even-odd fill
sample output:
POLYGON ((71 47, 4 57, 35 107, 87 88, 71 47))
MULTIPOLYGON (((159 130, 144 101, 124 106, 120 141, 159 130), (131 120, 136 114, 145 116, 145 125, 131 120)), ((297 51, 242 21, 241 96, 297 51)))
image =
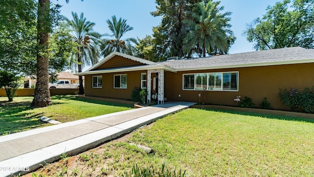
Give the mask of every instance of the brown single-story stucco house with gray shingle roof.
POLYGON ((113 52, 87 71, 86 96, 131 99, 135 87, 147 88, 148 102, 158 94, 172 101, 235 106, 236 96, 264 99, 272 109, 288 109, 279 89, 314 86, 314 49, 291 47, 199 59, 153 62, 113 52))

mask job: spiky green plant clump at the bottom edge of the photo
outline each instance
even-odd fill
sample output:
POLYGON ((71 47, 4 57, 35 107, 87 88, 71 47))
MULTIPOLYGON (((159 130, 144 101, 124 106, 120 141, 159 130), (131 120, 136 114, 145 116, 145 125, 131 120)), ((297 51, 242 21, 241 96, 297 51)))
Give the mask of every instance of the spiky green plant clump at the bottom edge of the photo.
POLYGON ((161 168, 154 167, 138 167, 137 164, 133 165, 131 173, 127 172, 122 175, 122 177, 184 177, 185 171, 183 172, 181 169, 176 171, 176 169, 169 169, 166 167, 166 164, 162 164, 161 168))

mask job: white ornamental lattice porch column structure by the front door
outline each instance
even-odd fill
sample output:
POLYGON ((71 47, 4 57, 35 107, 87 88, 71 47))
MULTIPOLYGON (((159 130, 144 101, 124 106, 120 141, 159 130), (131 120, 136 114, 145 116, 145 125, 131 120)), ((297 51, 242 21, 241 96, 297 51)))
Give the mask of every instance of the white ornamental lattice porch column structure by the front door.
POLYGON ((151 102, 151 78, 152 73, 158 73, 158 104, 164 103, 164 70, 163 69, 151 69, 147 70, 147 103, 151 102))

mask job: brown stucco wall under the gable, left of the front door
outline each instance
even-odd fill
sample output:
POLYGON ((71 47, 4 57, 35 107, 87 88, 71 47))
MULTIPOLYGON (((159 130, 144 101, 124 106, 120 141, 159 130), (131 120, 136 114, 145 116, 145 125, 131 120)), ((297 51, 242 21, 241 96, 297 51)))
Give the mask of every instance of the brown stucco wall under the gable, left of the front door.
POLYGON ((141 87, 141 73, 147 73, 147 70, 143 71, 131 71, 131 72, 118 72, 118 73, 105 73, 85 76, 84 93, 86 96, 100 96, 107 98, 118 98, 131 100, 131 93, 135 87, 141 87), (127 89, 114 89, 113 88, 113 75, 127 74, 127 89), (103 87, 92 88, 92 76, 103 76, 103 87))

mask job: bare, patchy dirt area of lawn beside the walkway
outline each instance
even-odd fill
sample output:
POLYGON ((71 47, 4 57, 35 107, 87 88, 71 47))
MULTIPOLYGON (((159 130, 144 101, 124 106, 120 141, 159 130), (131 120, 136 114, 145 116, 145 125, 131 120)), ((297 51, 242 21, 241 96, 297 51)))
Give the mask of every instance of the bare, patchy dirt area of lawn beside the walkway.
MULTIPOLYGON (((117 170, 121 169, 121 165, 116 166, 117 163, 128 160, 128 157, 123 156, 123 151, 131 143, 129 139, 132 134, 133 132, 80 154, 63 157, 57 162, 45 164, 37 171, 28 173, 23 177, 33 177, 33 174, 37 175, 35 177, 115 177, 117 176, 117 170), (117 152, 121 152, 121 154, 117 156, 117 152)), ((144 152, 138 151, 137 153, 144 152)))

